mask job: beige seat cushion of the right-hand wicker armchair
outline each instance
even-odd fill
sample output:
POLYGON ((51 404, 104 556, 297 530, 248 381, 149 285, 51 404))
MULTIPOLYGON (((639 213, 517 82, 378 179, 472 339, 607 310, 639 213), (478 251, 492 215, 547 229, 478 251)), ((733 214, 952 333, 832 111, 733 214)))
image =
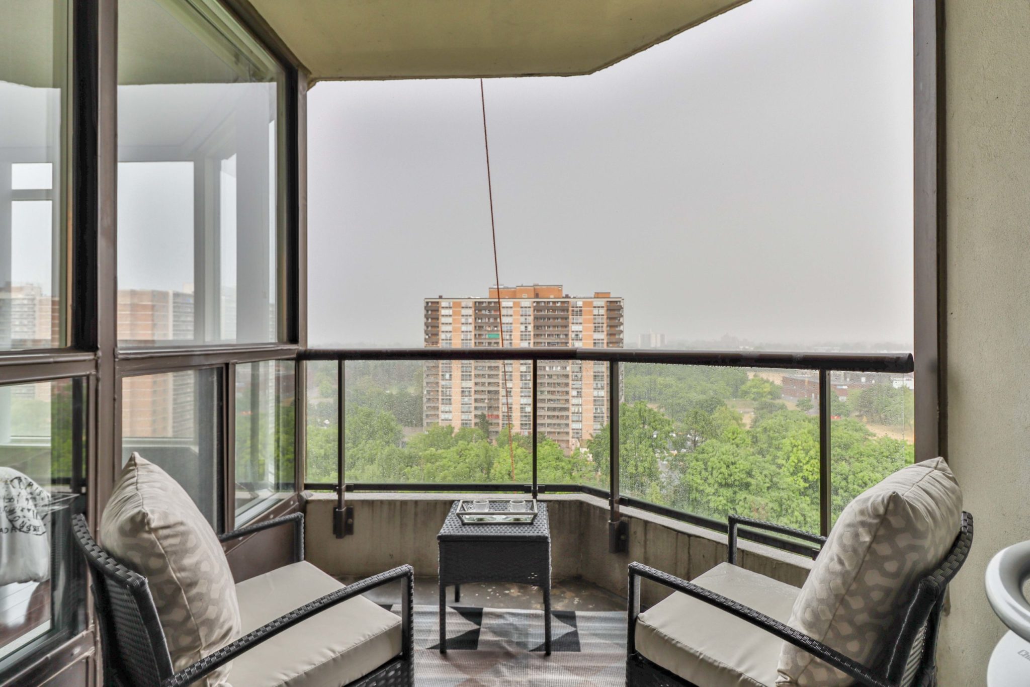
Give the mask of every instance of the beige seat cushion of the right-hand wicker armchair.
MULTIPOLYGON (((694 584, 786 622, 797 587, 721 563, 694 584)), ((642 613, 637 650, 695 685, 767 687, 776 682, 783 643, 751 623, 681 592, 642 613)))

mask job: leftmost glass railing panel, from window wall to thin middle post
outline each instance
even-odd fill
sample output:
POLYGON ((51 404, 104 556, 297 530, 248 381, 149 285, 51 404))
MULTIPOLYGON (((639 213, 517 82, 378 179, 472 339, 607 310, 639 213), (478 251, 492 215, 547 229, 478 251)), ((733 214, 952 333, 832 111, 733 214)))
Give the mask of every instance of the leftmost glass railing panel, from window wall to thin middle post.
MULTIPOLYGON (((335 482, 336 364, 312 368, 308 480, 335 482)), ((348 483, 530 483, 512 362, 351 360, 345 369, 348 483)))

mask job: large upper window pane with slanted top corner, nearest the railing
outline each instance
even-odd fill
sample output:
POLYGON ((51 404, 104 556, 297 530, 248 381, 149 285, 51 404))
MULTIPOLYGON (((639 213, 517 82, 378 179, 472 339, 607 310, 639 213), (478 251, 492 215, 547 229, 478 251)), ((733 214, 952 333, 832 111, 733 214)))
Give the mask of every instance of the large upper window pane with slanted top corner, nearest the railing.
POLYGON ((220 8, 118 3, 118 339, 278 339, 282 70, 220 8))

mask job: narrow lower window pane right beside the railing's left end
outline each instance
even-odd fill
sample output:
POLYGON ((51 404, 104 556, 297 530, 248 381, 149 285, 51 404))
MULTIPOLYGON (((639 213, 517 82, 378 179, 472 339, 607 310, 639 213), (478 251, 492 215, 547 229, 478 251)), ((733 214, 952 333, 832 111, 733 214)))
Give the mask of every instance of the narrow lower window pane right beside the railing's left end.
POLYGON ((295 492, 295 368, 236 366, 236 526, 295 492))

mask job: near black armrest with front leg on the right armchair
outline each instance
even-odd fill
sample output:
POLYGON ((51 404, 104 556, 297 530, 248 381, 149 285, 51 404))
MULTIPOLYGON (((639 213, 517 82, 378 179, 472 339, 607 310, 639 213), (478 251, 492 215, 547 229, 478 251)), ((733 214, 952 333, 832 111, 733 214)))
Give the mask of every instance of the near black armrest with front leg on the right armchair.
POLYGON ((763 613, 759 613, 752 608, 737 604, 731 598, 727 598, 714 591, 709 591, 705 587, 687 582, 676 576, 662 573, 661 571, 649 568, 638 562, 629 563, 629 633, 627 636, 627 655, 632 655, 637 651, 634 634, 637 627, 637 617, 640 615, 640 581, 639 577, 657 582, 658 584, 700 599, 706 604, 715 606, 726 613, 750 622, 752 625, 761 627, 766 632, 780 638, 784 642, 789 642, 795 647, 806 651, 813 656, 825 661, 829 665, 837 668, 848 677, 857 680, 860 685, 866 687, 895 687, 882 678, 873 675, 867 667, 844 654, 830 649, 822 642, 812 639, 808 634, 800 632, 793 627, 786 625, 779 620, 769 618, 763 613))

